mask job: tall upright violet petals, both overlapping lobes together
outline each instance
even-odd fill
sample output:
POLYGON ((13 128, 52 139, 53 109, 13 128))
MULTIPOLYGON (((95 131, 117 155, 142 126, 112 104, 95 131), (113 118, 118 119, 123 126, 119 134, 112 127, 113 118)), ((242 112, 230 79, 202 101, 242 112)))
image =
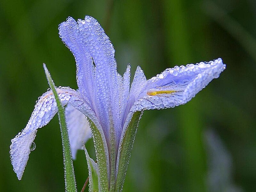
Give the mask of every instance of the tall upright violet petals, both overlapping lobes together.
POLYGON ((90 16, 77 22, 69 17, 59 29, 60 37, 76 58, 79 90, 85 99, 90 98, 108 140, 109 117, 113 116, 115 130, 121 126, 119 106, 116 105, 119 89, 114 47, 99 22, 90 16))

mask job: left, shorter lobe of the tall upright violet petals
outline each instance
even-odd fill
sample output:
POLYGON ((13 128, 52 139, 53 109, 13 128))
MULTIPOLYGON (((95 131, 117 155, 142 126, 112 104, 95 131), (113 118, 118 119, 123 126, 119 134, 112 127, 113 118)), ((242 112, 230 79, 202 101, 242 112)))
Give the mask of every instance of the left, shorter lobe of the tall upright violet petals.
POLYGON ((87 37, 80 33, 78 24, 72 17, 59 25, 59 31, 60 38, 76 59, 76 79, 80 93, 93 108, 95 68, 92 56, 84 45, 87 37))

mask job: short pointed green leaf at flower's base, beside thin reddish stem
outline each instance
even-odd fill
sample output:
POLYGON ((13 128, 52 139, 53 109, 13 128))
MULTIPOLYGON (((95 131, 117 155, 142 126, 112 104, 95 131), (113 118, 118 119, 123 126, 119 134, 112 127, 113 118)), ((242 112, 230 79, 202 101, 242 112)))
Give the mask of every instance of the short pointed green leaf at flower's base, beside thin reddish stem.
POLYGON ((84 145, 84 152, 87 160, 88 171, 89 171, 89 191, 90 192, 98 192, 99 191, 99 169, 98 165, 90 158, 85 145, 84 145))

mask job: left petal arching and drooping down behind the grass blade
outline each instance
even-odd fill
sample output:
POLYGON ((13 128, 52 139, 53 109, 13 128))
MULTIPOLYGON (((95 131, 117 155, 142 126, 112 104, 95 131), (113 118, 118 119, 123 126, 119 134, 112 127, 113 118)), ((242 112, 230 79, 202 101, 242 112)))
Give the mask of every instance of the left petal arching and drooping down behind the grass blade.
MULTIPOLYGON (((83 98, 73 89, 62 87, 56 89, 63 106, 68 102, 76 105, 85 103, 83 98)), ((87 107, 87 111, 89 107, 87 107)), ((57 113, 58 108, 52 91, 45 92, 36 102, 35 109, 26 127, 15 138, 10 146, 11 163, 20 180, 30 154, 30 146, 35 139, 38 128, 48 124, 57 113)))

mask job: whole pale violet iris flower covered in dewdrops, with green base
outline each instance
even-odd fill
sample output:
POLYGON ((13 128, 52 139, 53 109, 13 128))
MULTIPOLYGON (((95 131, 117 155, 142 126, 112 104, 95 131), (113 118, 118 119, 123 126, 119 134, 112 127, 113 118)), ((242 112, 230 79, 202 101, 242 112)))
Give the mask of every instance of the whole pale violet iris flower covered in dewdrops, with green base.
MULTIPOLYGON (((130 86, 131 67, 127 66, 123 76, 117 72, 114 47, 97 20, 90 16, 77 21, 68 17, 59 25, 59 34, 73 53, 77 68, 78 90, 56 88, 62 106, 66 106, 72 156, 76 156, 77 149, 92 135, 97 156, 97 164, 92 164, 99 174, 101 191, 111 191, 118 182, 121 187, 116 190, 122 190, 143 110, 173 108, 187 103, 226 67, 219 58, 167 68, 147 80, 138 66, 130 86), (130 130, 131 124, 135 127, 133 130, 130 130), (121 157, 122 153, 126 156, 121 157), (123 159, 126 160, 121 162, 123 159), (123 176, 118 180, 120 174, 123 176)), ((57 110, 52 91, 45 92, 36 102, 26 127, 12 139, 11 162, 19 180, 37 129, 48 124, 57 110)))

